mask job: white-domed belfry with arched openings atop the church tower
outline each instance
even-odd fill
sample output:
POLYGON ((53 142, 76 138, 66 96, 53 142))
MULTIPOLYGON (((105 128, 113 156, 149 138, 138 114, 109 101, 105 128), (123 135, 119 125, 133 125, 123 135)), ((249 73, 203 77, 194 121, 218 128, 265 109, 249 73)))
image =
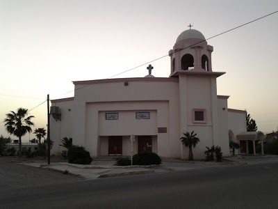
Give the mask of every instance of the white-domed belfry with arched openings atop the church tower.
MULTIPOLYGON (((190 25, 191 28, 191 25, 190 25)), ((212 71, 211 52, 204 35, 195 29, 183 31, 170 50, 171 75, 183 70, 212 71)))

